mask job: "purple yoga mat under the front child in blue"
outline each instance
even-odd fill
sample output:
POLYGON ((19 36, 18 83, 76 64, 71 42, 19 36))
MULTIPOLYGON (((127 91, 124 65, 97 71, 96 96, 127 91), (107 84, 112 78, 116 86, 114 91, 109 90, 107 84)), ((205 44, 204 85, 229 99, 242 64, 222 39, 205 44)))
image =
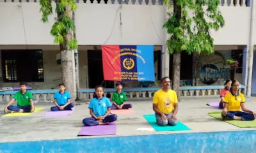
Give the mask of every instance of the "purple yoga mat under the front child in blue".
POLYGON ((100 136, 100 135, 115 135, 116 124, 111 122, 109 125, 99 126, 84 126, 77 136, 100 136))

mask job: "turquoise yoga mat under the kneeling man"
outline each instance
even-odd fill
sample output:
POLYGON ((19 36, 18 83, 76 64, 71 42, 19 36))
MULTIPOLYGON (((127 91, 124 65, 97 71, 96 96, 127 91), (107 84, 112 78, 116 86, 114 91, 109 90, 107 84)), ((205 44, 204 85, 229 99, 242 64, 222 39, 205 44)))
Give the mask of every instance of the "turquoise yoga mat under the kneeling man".
POLYGON ((143 117, 148 121, 148 123, 156 130, 156 131, 186 131, 191 130, 188 126, 185 126, 181 122, 178 122, 176 126, 159 126, 156 124, 156 117, 154 114, 143 115, 143 117))

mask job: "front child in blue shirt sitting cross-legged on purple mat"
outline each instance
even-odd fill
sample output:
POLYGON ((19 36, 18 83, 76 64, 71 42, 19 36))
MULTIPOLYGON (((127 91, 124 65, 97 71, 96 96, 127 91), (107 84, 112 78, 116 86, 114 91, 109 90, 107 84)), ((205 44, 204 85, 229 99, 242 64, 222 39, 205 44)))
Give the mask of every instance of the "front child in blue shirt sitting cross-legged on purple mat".
POLYGON ((92 117, 83 119, 84 126, 108 125, 117 119, 116 114, 111 114, 111 102, 103 97, 104 88, 101 85, 95 87, 96 98, 90 101, 89 109, 92 117))

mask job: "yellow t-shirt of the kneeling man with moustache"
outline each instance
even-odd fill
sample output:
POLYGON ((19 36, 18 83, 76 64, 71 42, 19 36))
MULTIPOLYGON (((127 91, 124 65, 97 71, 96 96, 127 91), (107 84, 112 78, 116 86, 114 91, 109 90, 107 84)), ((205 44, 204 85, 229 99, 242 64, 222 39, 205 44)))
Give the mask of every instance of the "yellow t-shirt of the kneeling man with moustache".
POLYGON ((160 112, 171 113, 173 104, 178 103, 177 94, 173 90, 164 92, 160 89, 154 94, 153 103, 157 104, 157 108, 160 112))

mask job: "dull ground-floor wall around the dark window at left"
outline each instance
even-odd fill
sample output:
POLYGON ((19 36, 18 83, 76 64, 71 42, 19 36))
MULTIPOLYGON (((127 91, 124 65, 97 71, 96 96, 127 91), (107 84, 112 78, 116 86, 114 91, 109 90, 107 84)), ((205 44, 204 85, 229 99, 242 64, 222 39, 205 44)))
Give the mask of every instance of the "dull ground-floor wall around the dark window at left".
MULTIPOLYGON (((0 49, 25 49, 20 46, 0 47, 0 49)), ((93 47, 79 47, 79 81, 80 87, 86 88, 88 78, 87 50, 93 47)), ((28 49, 43 49, 44 60, 44 82, 28 82, 33 89, 57 89, 61 83, 61 65, 56 64, 56 50, 58 46, 32 46, 28 49)), ((1 52, 0 52, 1 53, 1 52)), ((0 59, 1 60, 1 59, 0 59)), ((1 61, 0 61, 1 62, 1 61)), ((0 66, 0 76, 2 77, 2 66, 0 66)), ((3 83, 2 87, 19 87, 19 83, 3 83)))

